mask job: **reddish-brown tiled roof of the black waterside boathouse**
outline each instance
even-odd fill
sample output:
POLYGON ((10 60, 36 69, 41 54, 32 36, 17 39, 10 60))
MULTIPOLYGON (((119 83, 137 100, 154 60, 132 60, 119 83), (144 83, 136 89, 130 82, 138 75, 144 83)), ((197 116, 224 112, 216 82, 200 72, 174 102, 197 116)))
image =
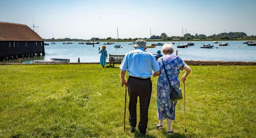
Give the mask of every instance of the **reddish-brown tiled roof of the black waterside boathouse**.
POLYGON ((26 24, 0 22, 0 41, 43 41, 26 24))

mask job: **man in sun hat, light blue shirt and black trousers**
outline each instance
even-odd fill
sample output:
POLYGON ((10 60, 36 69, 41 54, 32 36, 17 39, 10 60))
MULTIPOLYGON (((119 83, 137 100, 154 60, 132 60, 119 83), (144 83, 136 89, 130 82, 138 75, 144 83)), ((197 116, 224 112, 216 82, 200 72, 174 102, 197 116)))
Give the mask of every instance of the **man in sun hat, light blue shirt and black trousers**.
POLYGON ((152 53, 146 52, 146 41, 138 39, 134 45, 135 50, 128 52, 121 63, 121 83, 127 84, 129 101, 129 124, 130 132, 135 132, 137 124, 137 98, 140 105, 140 136, 145 136, 148 123, 148 107, 152 92, 150 77, 159 75, 160 68, 152 53), (152 69, 154 73, 152 73, 152 69), (128 70, 128 81, 125 79, 125 72, 128 70))

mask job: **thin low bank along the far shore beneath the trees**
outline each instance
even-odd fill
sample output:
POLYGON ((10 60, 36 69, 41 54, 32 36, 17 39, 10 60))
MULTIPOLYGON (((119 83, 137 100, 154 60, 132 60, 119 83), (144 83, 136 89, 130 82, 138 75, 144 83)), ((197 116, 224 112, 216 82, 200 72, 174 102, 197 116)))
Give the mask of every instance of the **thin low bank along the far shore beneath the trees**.
MULTIPOLYGON (((149 42, 154 41, 163 41, 163 42, 170 42, 170 41, 179 41, 179 39, 173 39, 173 40, 163 40, 163 39, 144 39, 149 42)), ((48 41, 45 42, 93 42, 93 40, 71 40, 71 41, 48 41)), ((94 42, 135 42, 136 40, 94 40, 94 42)), ((185 40, 183 40, 185 41, 185 40)), ((190 39, 186 41, 225 41, 223 39, 190 39)), ((256 41, 256 39, 227 39, 226 41, 256 41)), ((180 40, 182 42, 182 40, 180 40)))

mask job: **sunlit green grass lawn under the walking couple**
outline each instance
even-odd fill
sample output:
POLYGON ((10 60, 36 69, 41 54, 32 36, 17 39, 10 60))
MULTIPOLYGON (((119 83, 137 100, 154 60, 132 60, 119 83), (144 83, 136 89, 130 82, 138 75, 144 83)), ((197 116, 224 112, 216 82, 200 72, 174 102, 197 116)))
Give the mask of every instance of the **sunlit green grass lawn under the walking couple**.
MULTIPOLYGON (((188 134, 180 100, 171 137, 255 137, 256 66, 191 68, 188 134)), ((0 66, 0 137, 137 137, 138 128, 135 135, 128 131, 128 96, 123 132, 125 89, 119 72, 100 65, 0 66)), ((157 78, 152 82, 147 137, 165 138, 166 120, 165 130, 155 129, 157 78)))

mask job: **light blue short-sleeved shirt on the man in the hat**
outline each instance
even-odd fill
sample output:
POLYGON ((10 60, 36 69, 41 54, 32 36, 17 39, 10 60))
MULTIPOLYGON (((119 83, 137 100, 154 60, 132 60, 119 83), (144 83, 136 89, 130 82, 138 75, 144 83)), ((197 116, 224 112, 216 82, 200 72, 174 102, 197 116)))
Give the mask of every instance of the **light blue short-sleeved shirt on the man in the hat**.
POLYGON ((156 72, 160 67, 152 53, 138 47, 125 55, 120 69, 124 71, 128 69, 129 76, 146 79, 152 76, 152 69, 156 72))

